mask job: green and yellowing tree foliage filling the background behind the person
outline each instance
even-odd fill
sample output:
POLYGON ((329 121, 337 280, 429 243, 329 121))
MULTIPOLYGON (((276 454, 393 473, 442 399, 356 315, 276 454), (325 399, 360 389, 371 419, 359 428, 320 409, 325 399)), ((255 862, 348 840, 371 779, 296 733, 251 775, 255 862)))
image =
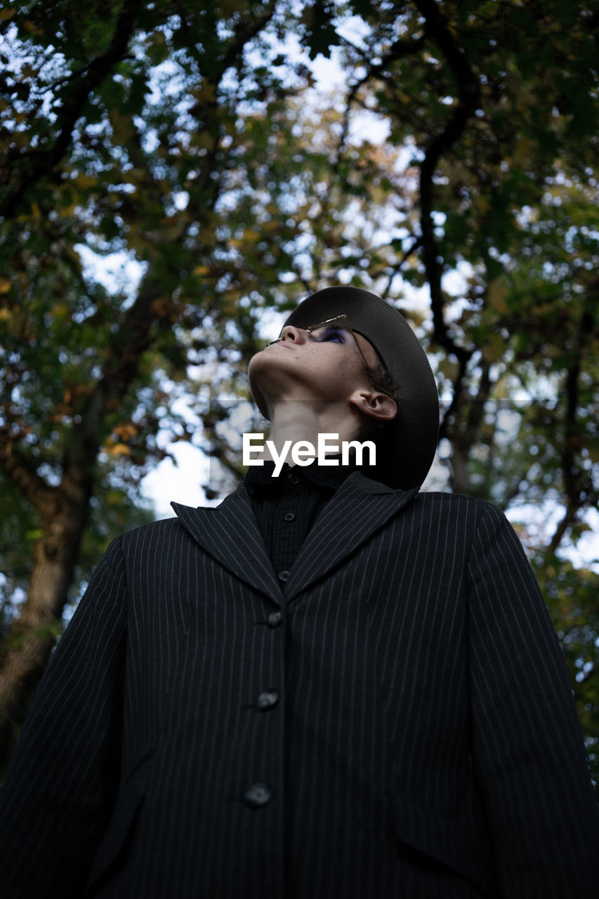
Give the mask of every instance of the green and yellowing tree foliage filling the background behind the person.
MULTIPOLYGON (((523 527, 596 743, 594 575, 567 550, 599 493, 598 21, 595 0, 0 13, 5 629, 39 627, 50 559, 56 620, 147 519, 169 440, 239 476, 228 421, 264 316, 359 283, 434 360, 443 488, 523 527), (323 54, 343 72, 326 96, 323 54)), ((20 697, 0 691, 13 729, 20 697)))

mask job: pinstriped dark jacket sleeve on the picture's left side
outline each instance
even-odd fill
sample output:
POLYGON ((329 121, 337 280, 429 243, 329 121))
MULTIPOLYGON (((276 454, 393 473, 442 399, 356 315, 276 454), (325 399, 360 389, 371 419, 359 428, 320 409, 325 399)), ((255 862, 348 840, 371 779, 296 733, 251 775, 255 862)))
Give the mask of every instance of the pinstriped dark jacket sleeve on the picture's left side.
POLYGON ((112 542, 53 654, 0 791, 0 891, 83 895, 119 782, 125 574, 112 542))

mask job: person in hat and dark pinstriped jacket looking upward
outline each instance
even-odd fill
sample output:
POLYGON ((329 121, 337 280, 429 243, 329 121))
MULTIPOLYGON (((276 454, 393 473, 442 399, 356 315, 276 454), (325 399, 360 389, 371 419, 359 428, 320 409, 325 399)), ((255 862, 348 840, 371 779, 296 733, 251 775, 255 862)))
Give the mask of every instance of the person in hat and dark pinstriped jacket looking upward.
POLYGON ((265 463, 112 543, 4 788, 3 895, 593 895, 557 637, 503 514, 418 493, 438 407, 407 323, 318 291, 249 377, 273 456, 336 432, 376 465, 265 463))

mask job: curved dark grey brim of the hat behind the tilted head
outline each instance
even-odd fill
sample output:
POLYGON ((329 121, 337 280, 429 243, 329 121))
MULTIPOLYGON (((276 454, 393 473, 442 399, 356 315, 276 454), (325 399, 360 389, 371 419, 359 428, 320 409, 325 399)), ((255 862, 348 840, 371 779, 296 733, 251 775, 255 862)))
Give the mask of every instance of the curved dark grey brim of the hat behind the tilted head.
POLYGON ((345 315, 379 353, 393 384, 398 414, 377 441, 376 476, 391 487, 419 486, 433 464, 439 435, 439 395, 433 370, 406 319, 370 290, 327 287, 302 300, 285 325, 300 328, 345 315))

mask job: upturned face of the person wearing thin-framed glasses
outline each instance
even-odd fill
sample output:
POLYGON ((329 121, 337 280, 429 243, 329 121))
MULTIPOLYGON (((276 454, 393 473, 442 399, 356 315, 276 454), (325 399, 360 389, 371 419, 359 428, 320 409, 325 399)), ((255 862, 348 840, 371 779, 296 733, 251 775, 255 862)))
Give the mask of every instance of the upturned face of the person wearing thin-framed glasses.
POLYGON ((271 417, 270 406, 283 399, 317 404, 348 401, 354 390, 370 386, 364 360, 371 368, 379 364, 377 352, 362 334, 334 326, 310 334, 287 325, 277 343, 250 360, 252 396, 266 417, 271 417))

